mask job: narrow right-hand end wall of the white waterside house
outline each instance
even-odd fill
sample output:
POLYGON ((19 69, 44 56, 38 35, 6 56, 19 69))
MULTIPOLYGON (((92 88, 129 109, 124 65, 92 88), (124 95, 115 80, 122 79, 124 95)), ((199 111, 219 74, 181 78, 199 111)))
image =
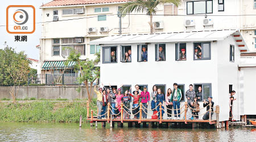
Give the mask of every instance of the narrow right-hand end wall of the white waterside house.
MULTIPOLYGON (((238 98, 240 90, 238 90, 238 63, 240 62, 240 50, 236 46, 234 38, 229 36, 225 41, 218 42, 218 105, 220 105, 220 121, 229 120, 229 85, 233 85, 233 90, 237 94, 234 96, 238 98), (230 44, 235 47, 234 62, 229 61, 230 44)), ((238 113, 238 102, 234 101, 233 117, 235 120, 240 120, 238 113)))

